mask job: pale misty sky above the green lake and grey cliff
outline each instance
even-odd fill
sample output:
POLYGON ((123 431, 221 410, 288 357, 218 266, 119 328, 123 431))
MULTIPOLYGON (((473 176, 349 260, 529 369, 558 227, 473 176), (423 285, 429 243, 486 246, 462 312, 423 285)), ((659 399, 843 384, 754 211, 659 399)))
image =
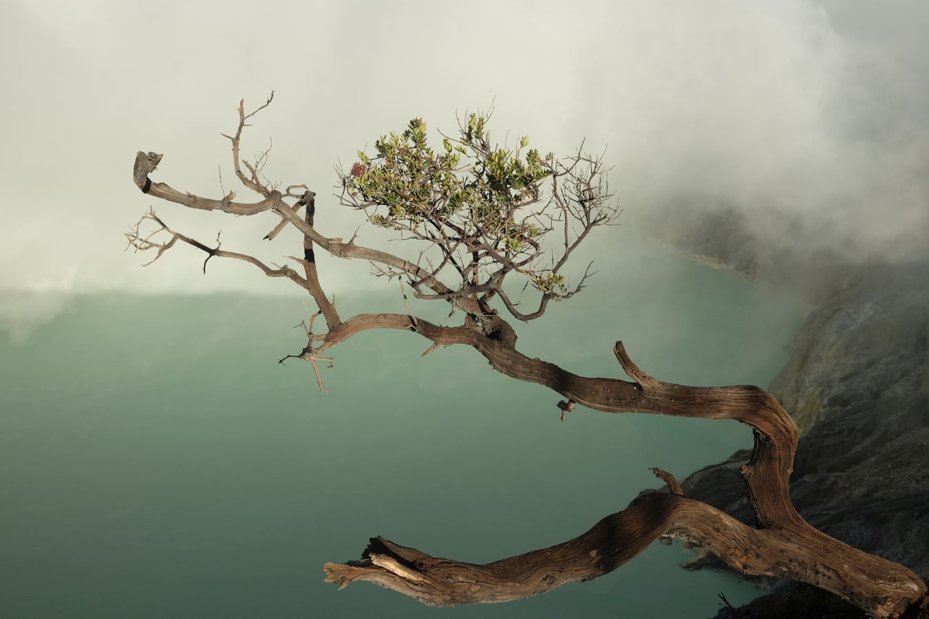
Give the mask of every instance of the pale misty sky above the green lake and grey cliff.
MULTIPOLYGON (((869 251, 904 246, 929 210, 925 32, 919 0, 14 0, 0 23, 0 290, 285 289, 244 264, 214 261, 203 277, 186 249, 145 269, 146 256, 123 252, 149 205, 203 240, 221 229, 226 249, 294 252, 293 237, 259 240, 270 213, 185 212, 130 175, 136 151, 155 150, 155 180, 219 197, 217 165, 234 187, 219 133, 234 130, 241 97, 255 105, 272 89, 243 151, 272 136, 268 177, 314 187, 329 236, 355 227, 328 196, 336 161, 413 116, 449 131, 456 110, 494 100, 501 139, 608 147, 630 222, 663 200, 712 195, 799 213, 869 251)), ((614 251, 632 233, 593 242, 614 251)), ((329 290, 368 284, 366 265, 322 265, 329 290)))

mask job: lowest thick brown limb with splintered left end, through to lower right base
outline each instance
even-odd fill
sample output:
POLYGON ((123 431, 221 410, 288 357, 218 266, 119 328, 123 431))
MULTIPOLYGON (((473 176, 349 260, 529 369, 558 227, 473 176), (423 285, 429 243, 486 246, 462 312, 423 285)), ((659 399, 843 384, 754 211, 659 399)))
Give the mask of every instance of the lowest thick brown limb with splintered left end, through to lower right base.
POLYGON ((897 616, 926 593, 906 568, 886 571, 894 565, 890 561, 866 555, 867 560, 849 564, 849 551, 857 550, 812 527, 753 529, 700 501, 658 492, 636 498, 567 542, 502 561, 476 565, 434 558, 374 537, 360 561, 326 563, 323 570, 325 581, 340 588, 369 581, 430 606, 504 602, 608 574, 662 535, 699 544, 743 574, 783 576, 829 589, 875 617, 897 616), (875 582, 874 574, 882 574, 880 580, 875 582))

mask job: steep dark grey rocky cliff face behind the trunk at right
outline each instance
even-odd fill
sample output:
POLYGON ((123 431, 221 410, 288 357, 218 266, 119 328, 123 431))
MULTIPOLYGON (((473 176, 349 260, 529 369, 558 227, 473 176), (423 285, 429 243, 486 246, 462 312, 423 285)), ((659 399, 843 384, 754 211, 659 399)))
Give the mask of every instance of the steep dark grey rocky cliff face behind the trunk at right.
MULTIPOLYGON (((805 519, 929 577, 929 263, 858 268, 837 282, 770 391, 801 429, 791 496, 805 519)), ((695 472, 687 495, 753 523, 739 476, 748 458, 695 472)), ((720 616, 768 616, 810 595, 828 611, 808 616, 860 616, 796 585, 720 616)))

